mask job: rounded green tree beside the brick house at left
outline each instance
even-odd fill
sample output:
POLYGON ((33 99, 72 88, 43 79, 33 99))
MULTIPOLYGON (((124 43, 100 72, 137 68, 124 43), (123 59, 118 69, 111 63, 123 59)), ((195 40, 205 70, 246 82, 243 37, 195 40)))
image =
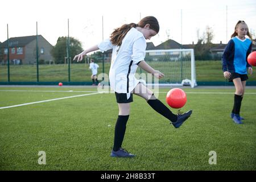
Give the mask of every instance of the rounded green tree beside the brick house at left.
MULTIPOLYGON (((51 55, 55 59, 56 64, 63 64, 65 57, 67 57, 67 42, 68 38, 66 36, 61 36, 58 38, 56 45, 52 48, 51 55)), ((69 38, 69 57, 71 60, 75 55, 82 52, 81 42, 75 38, 69 38)))

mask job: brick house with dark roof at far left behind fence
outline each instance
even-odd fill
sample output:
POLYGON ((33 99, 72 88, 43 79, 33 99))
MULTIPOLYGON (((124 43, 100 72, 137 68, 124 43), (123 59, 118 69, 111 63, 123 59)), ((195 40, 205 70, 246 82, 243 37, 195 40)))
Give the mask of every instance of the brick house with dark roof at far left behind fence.
MULTIPOLYGON (((38 35, 39 63, 49 63, 53 60, 51 49, 53 46, 42 35, 38 35)), ((0 44, 3 52, 0 63, 7 63, 7 40, 0 44), (4 50, 4 51, 3 51, 4 50)), ((35 64, 36 63, 36 35, 21 36, 9 39, 10 64, 35 64)))

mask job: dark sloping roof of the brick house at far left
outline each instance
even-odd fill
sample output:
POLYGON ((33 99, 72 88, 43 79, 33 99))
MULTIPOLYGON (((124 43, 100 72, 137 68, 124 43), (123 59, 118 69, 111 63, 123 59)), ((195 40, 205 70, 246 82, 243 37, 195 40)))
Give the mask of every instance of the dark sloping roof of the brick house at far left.
MULTIPOLYGON (((42 35, 38 35, 38 36, 42 36, 42 35)), ((43 38, 43 36, 42 36, 42 38, 43 38)), ((9 47, 24 47, 28 43, 32 42, 35 39, 36 39, 36 35, 19 36, 19 37, 15 37, 15 38, 10 38, 9 39, 9 47)), ((2 44, 0 44, 0 47, 6 47, 6 46, 7 46, 7 40, 5 42, 3 42, 2 44)))

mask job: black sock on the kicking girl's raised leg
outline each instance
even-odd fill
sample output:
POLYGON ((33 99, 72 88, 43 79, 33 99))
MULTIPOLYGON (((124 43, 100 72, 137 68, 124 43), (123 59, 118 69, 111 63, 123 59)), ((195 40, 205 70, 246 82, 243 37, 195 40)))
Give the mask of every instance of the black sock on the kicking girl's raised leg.
POLYGON ((172 113, 166 105, 163 104, 163 102, 159 101, 158 99, 150 99, 147 101, 147 103, 159 114, 162 114, 164 117, 169 119, 171 122, 177 121, 177 115, 172 113))

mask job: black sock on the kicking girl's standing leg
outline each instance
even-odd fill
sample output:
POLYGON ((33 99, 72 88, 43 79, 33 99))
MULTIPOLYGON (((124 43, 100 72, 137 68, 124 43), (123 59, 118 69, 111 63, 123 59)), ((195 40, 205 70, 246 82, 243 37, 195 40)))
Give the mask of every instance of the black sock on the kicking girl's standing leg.
POLYGON ((122 146, 123 138, 125 137, 126 123, 129 115, 118 115, 117 123, 115 123, 115 136, 113 151, 118 151, 122 146))

